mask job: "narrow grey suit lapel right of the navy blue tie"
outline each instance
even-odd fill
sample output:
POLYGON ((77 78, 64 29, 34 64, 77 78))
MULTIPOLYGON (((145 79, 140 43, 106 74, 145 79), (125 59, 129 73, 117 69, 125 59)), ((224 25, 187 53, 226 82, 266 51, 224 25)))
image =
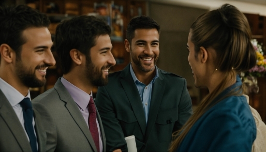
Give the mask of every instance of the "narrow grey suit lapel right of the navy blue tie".
MULTIPOLYGON (((33 109, 34 110, 34 109, 33 109)), ((39 152, 44 152, 45 151, 45 144, 46 144, 46 134, 44 127, 41 123, 41 117, 40 114, 34 110, 34 121, 35 121, 35 131, 36 131, 36 136, 37 136, 37 141, 38 141, 38 151, 39 152)))

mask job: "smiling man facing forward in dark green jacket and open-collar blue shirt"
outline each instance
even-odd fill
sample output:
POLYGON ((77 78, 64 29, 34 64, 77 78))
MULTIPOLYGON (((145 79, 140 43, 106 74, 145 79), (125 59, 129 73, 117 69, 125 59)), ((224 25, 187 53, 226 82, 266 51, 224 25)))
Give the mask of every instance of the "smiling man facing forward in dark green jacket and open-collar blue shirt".
POLYGON ((126 152, 124 137, 134 135, 137 151, 167 152, 172 133, 192 114, 186 80, 156 67, 160 26, 152 18, 133 18, 126 34, 131 63, 109 75, 95 99, 106 150, 126 152))

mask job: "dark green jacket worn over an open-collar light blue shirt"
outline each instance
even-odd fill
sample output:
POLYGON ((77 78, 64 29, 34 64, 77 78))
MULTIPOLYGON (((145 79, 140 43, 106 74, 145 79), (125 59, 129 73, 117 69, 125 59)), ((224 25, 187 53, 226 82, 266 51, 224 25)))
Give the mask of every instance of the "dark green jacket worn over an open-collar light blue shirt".
POLYGON ((108 76, 108 84, 99 87, 95 104, 106 135, 106 150, 127 151, 124 137, 135 136, 141 152, 167 152, 172 133, 192 115, 192 102, 186 80, 158 68, 152 85, 148 122, 139 91, 130 73, 130 64, 108 76))

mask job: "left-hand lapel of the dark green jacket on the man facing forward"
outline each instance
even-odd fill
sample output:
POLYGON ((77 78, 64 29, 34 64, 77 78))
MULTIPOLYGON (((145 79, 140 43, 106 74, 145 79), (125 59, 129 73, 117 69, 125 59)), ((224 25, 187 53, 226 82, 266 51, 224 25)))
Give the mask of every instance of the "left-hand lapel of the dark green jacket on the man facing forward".
POLYGON ((138 89, 130 73, 130 64, 126 66, 126 68, 122 71, 120 76, 124 77, 120 80, 120 82, 133 108, 133 112, 140 125, 143 136, 145 136, 145 131, 146 131, 145 112, 143 109, 143 104, 138 89))

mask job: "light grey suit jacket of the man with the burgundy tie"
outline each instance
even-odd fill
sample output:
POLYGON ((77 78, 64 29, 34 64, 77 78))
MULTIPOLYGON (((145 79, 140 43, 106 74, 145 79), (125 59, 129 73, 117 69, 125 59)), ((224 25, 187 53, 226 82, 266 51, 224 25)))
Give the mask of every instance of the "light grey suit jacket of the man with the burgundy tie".
MULTIPOLYGON (((58 136, 55 151, 97 152, 88 125, 75 101, 61 83, 60 78, 56 82, 54 88, 45 91, 32 101, 46 106, 46 108, 49 109, 49 113, 54 118, 58 136)), ((105 152, 105 135, 98 111, 97 120, 102 134, 103 152, 105 152)), ((44 123, 49 124, 50 122, 44 123)))

